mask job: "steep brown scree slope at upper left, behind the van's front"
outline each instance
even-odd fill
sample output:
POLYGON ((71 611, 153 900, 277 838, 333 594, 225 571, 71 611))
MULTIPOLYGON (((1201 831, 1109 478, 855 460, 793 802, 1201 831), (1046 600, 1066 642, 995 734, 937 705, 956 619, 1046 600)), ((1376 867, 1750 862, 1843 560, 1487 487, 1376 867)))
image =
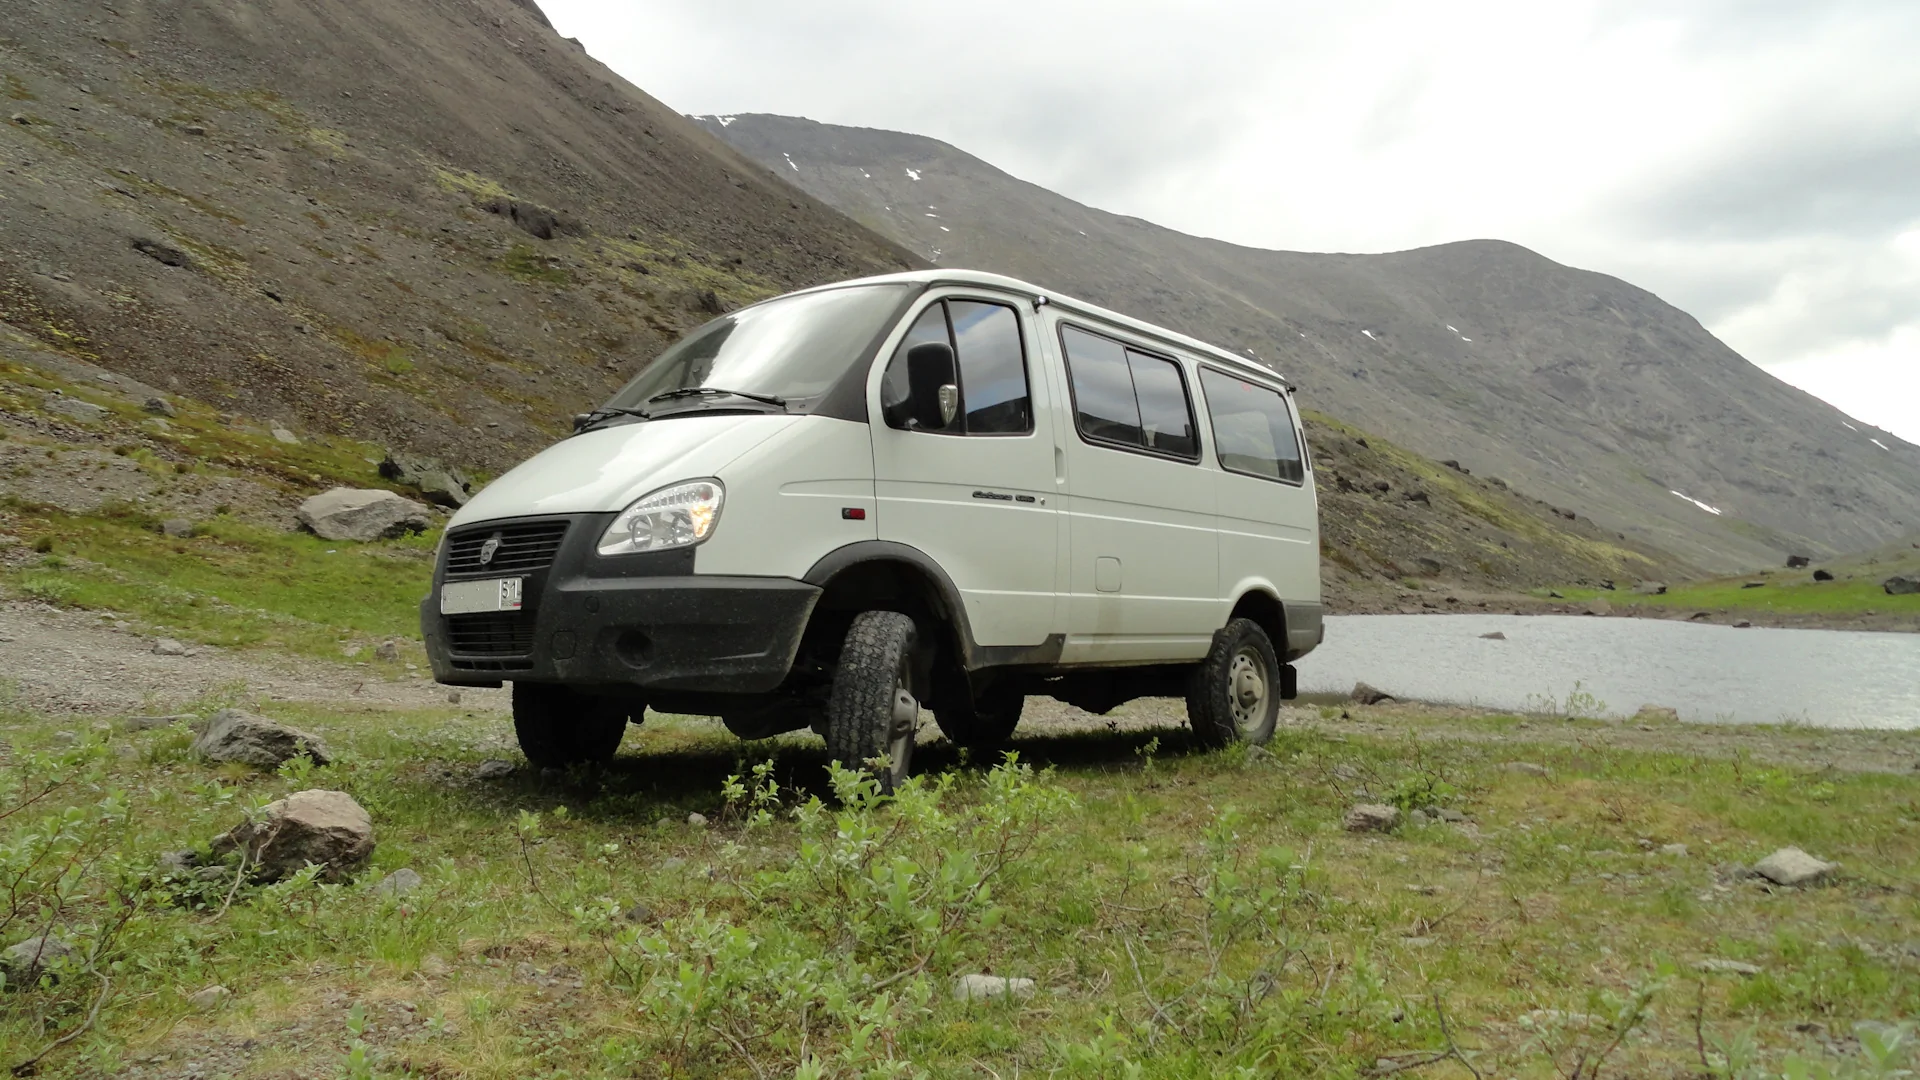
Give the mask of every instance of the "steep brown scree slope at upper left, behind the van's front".
POLYGON ((21 0, 0 321, 499 469, 726 304, 920 265, 530 0, 21 0))

